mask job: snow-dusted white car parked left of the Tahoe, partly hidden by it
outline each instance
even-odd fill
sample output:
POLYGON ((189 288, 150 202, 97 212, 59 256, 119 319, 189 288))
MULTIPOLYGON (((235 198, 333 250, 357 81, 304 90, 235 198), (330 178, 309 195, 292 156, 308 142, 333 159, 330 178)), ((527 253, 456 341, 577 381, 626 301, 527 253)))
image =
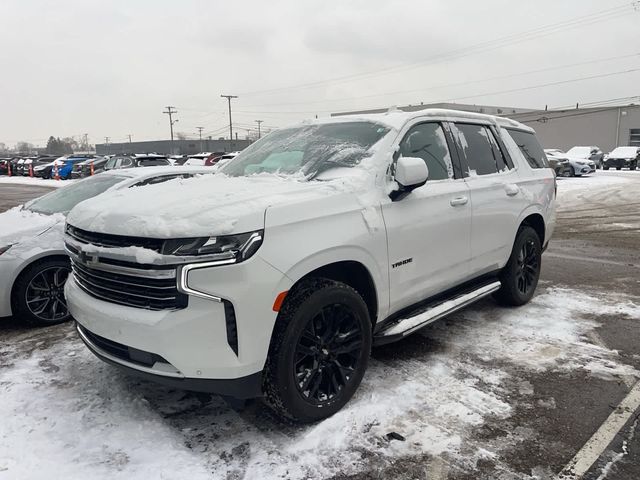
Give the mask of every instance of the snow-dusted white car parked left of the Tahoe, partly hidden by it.
POLYGON ((148 167, 101 173, 0 213, 0 317, 14 315, 31 325, 69 319, 63 295, 70 271, 64 222, 79 202, 106 191, 201 173, 210 171, 148 167))

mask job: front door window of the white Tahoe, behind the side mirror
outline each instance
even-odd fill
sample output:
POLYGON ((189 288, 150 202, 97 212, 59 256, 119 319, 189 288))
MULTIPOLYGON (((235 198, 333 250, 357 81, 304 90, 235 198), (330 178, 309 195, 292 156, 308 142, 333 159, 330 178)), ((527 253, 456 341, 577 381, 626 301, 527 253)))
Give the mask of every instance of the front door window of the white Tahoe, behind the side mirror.
POLYGON ((400 154, 424 160, 429 168, 429 180, 453 178, 447 138, 439 123, 421 123, 412 127, 400 142, 400 154))

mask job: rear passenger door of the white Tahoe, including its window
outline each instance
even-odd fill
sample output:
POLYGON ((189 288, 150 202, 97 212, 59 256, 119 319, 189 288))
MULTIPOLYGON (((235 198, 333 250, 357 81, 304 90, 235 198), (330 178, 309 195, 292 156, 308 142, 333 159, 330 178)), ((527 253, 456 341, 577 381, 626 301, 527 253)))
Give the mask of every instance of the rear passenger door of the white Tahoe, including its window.
POLYGON ((452 126, 471 196, 472 276, 504 266, 511 254, 522 206, 518 172, 491 124, 452 126))

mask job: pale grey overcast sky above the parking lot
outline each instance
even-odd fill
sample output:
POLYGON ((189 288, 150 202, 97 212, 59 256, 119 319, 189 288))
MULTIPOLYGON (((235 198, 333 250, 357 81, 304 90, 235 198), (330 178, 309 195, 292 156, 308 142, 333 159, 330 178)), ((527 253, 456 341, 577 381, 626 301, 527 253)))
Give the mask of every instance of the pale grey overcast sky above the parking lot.
POLYGON ((640 95, 639 71, 522 90, 640 68, 639 25, 630 1, 2 0, 0 142, 168 138, 167 105, 177 131, 217 138, 220 94, 239 95, 240 136, 331 111, 640 95))

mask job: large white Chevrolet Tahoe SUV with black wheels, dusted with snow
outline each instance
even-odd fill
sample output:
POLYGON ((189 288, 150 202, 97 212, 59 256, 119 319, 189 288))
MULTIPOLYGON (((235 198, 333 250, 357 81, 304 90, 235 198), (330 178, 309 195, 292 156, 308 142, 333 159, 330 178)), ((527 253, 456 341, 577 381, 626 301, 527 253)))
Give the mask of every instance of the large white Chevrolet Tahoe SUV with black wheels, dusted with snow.
POLYGON ((487 115, 317 120, 220 172, 76 207, 69 309, 107 362, 298 421, 349 400, 372 345, 529 301, 555 225, 534 131, 487 115))

